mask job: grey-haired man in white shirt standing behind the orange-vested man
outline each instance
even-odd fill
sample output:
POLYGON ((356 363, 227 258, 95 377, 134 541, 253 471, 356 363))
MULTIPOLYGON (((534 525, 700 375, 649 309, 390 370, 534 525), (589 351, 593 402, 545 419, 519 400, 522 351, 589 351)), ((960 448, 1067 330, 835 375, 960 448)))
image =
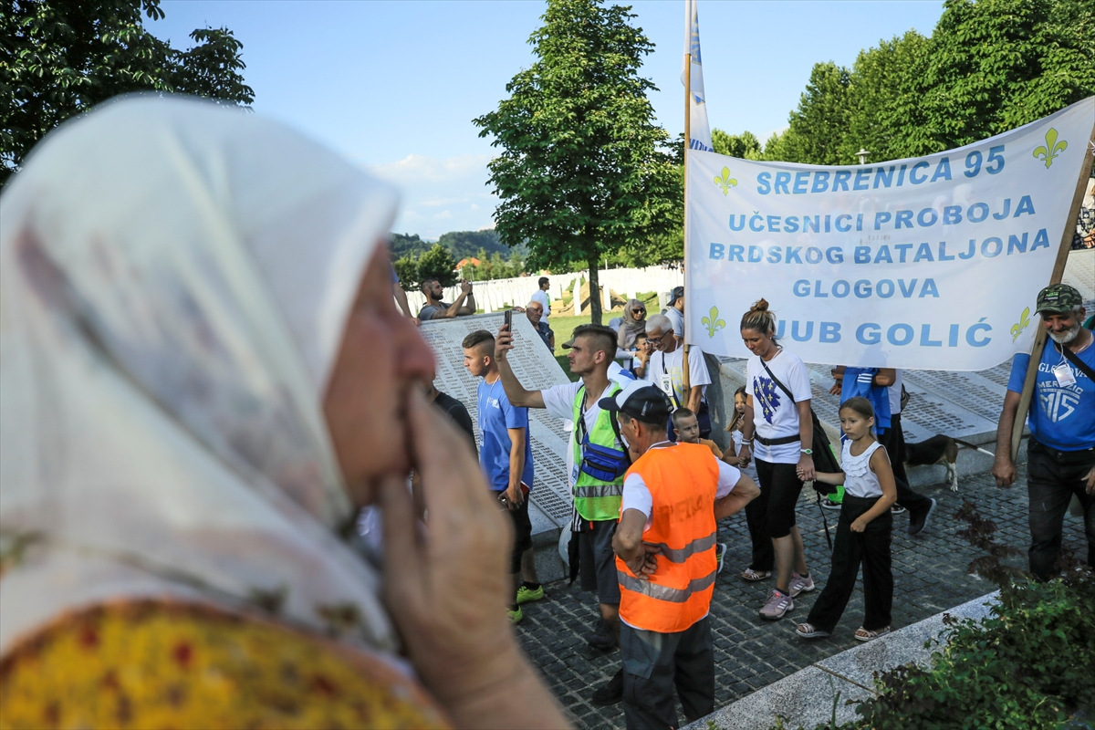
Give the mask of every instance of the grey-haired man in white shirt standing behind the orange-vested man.
MULTIPOLYGON (((711 416, 704 394, 711 384, 711 373, 703 359, 703 350, 689 348, 689 391, 684 392, 684 346, 673 336, 673 327, 664 314, 655 314, 646 321, 646 341, 654 345, 654 352, 645 364, 635 368, 643 380, 654 383, 669 396, 673 408, 688 408, 700 419, 700 436, 711 433, 711 416)), ((667 436, 676 440, 672 426, 667 425, 667 436)))

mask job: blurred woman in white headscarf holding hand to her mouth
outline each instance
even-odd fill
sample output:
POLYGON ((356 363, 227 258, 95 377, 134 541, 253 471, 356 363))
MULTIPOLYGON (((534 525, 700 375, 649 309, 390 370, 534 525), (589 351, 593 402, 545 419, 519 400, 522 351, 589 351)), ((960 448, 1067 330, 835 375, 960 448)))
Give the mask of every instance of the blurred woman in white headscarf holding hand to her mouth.
POLYGON ((565 725, 507 626, 505 522, 416 385, 394 209, 178 99, 69 123, 10 182, 0 725, 565 725), (374 501, 382 575, 348 537, 374 501))

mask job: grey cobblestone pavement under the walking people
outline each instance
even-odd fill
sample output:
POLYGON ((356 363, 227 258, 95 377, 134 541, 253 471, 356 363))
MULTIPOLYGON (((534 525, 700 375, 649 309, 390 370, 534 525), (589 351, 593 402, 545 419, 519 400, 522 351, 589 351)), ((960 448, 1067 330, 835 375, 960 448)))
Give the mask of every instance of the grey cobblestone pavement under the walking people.
MULTIPOLYGON (((900 628, 946 611, 994 590, 966 567, 980 555, 955 536, 965 524, 954 518, 964 499, 977 505, 982 517, 1000 528, 998 541, 1023 551, 1017 565, 1026 567, 1029 533, 1026 523, 1026 468, 1011 489, 998 489, 988 474, 959 480, 953 493, 940 484, 920 489, 938 507, 922 536, 906 534, 908 513, 894 519, 894 628, 900 628)), ((812 489, 804 489, 798 505, 798 528, 806 545, 806 561, 818 590, 795 599, 795 609, 782 621, 760 618, 773 580, 747 583, 739 577, 749 565, 750 543, 745 513, 719 522, 719 541, 728 545, 726 569, 718 576, 711 605, 715 635, 715 707, 723 707, 818 660, 852 648, 852 635, 863 617, 863 592, 856 588, 832 638, 803 641, 792 636, 795 624, 806 621, 829 575, 820 510, 812 489), (809 493, 809 494, 807 494, 809 493)), ((835 534, 837 511, 827 511, 829 529, 835 534)), ((1086 554, 1082 521, 1068 514, 1064 544, 1077 555, 1086 554)), ((521 646, 540 669, 555 696, 583 728, 623 728, 620 705, 598 707, 589 700, 592 690, 607 682, 620 668, 620 652, 604 654, 590 649, 585 637, 596 625, 597 605, 591 593, 583 593, 566 581, 549 583, 543 601, 523 606, 525 621, 518 626, 521 646)), ((679 719, 684 720, 678 706, 679 719)))

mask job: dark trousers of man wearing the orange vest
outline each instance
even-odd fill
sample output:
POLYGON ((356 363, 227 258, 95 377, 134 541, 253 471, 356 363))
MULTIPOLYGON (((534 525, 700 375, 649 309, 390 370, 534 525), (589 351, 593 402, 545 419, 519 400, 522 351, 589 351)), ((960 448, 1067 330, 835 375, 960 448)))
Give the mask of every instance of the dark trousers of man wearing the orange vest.
POLYGON ((676 728, 673 686, 692 722, 715 711, 715 650, 711 619, 659 634, 620 625, 623 716, 627 730, 676 728))

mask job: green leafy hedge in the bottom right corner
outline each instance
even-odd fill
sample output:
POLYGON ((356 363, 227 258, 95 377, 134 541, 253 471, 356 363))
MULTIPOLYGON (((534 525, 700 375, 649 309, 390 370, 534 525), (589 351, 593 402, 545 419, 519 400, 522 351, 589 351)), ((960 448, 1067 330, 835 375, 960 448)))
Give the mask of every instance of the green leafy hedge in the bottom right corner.
MULTIPOLYGON (((841 730, 1091 728, 1095 723, 1095 572, 1062 556, 1063 578, 1039 583, 1005 563, 1019 551, 994 542, 996 525, 972 505, 955 515, 959 537, 986 552, 970 571, 1000 586, 979 622, 944 616, 929 669, 876 676, 877 696, 841 730)), ((931 646, 932 642, 929 642, 931 646)), ((835 705, 834 705, 835 708, 835 705)), ((783 728, 779 722, 776 728, 783 728)))

